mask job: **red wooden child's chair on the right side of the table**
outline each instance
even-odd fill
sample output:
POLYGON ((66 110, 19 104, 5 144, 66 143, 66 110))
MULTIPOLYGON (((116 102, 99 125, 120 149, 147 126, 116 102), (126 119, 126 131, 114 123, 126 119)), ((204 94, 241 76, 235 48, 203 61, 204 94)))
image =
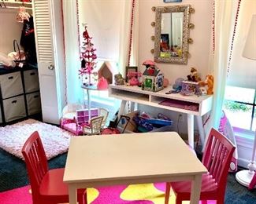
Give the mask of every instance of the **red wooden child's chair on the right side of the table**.
MULTIPOLYGON (((202 188, 200 200, 217 200, 217 204, 224 204, 224 195, 227 184, 229 164, 235 147, 224 135, 216 129, 210 130, 206 151, 202 156, 202 163, 208 169, 208 173, 202 174, 202 188)), ((176 204, 183 200, 190 200, 191 181, 168 182, 165 190, 165 204, 169 202, 170 188, 176 194, 176 204)))

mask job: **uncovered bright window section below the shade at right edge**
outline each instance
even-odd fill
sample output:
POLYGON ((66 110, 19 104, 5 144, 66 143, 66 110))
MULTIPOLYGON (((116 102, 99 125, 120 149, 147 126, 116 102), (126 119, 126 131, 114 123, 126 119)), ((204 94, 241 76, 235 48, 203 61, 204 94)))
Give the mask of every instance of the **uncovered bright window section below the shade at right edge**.
POLYGON ((247 133, 255 131, 256 89, 226 86, 223 109, 235 129, 247 133))

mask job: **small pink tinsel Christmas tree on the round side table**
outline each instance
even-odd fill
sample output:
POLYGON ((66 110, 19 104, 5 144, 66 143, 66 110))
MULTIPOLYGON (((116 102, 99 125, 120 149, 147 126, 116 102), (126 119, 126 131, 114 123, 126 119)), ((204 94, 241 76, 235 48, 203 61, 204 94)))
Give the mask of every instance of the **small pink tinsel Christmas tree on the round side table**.
POLYGON ((79 75, 83 75, 87 82, 84 82, 83 85, 91 86, 93 85, 91 82, 91 75, 97 75, 97 72, 94 71, 96 66, 97 56, 95 54, 96 49, 94 48, 94 44, 91 42, 91 37, 87 32, 87 26, 84 27, 85 31, 83 31, 83 46, 81 47, 81 68, 79 70, 79 75))

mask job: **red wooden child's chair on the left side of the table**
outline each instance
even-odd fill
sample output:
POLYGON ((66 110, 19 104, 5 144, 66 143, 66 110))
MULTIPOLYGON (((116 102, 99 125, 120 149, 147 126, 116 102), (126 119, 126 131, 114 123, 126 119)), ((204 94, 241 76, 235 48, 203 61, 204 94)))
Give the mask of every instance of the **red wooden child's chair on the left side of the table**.
MULTIPOLYGON (((39 133, 35 131, 22 148, 34 204, 69 202, 68 186, 63 183, 64 168, 48 169, 39 133)), ((77 201, 87 204, 86 189, 78 189, 77 201)))

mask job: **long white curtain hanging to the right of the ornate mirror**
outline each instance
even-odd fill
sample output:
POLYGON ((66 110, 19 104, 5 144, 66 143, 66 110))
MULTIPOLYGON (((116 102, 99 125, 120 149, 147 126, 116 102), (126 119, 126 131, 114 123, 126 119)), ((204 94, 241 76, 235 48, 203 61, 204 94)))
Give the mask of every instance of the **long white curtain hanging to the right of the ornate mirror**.
MULTIPOLYGON (((238 0, 215 0, 215 51, 210 73, 214 76, 213 109, 206 126, 206 137, 210 128, 218 129, 221 118, 224 89, 227 82, 228 57, 231 49, 232 34, 236 20, 238 0)), ((207 141, 207 138, 206 138, 207 141)))

